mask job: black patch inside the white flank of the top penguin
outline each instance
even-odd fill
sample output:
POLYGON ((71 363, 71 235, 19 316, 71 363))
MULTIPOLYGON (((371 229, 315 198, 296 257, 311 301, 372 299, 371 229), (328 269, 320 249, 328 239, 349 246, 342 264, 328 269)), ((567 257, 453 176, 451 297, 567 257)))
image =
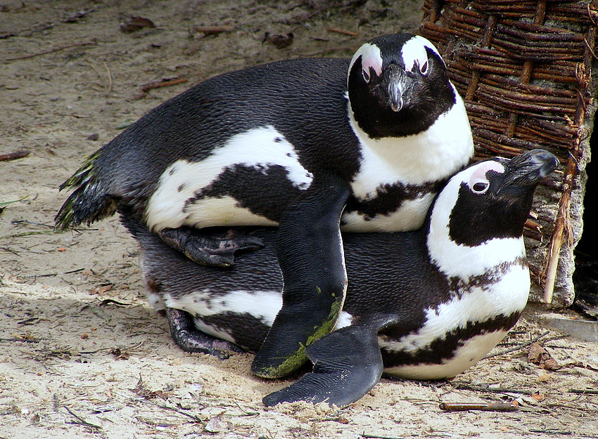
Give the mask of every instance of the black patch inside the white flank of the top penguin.
POLYGON ((232 197, 238 206, 253 214, 279 221, 284 209, 301 193, 288 178, 288 170, 281 165, 227 167, 210 185, 196 191, 186 206, 206 197, 232 197))

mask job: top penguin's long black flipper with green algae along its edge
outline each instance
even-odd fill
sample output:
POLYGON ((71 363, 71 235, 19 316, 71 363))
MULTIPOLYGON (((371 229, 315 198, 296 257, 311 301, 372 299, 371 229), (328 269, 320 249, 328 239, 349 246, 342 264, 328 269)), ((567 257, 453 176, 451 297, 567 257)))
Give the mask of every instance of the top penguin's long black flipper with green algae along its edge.
POLYGON ((257 376, 295 371, 307 361, 305 347, 336 325, 347 288, 340 219, 350 194, 348 183, 314 179, 281 217, 276 256, 283 305, 251 365, 257 376))

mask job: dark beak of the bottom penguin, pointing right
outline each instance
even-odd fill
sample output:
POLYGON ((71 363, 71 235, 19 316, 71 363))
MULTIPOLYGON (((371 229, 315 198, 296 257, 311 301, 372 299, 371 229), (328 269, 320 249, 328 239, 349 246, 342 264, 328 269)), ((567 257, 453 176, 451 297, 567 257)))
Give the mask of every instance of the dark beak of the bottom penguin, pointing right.
POLYGON ((509 184, 500 192, 507 192, 514 187, 528 188, 536 185, 542 178, 549 176, 559 166, 559 159, 545 150, 531 150, 511 159, 507 163, 504 176, 509 184))

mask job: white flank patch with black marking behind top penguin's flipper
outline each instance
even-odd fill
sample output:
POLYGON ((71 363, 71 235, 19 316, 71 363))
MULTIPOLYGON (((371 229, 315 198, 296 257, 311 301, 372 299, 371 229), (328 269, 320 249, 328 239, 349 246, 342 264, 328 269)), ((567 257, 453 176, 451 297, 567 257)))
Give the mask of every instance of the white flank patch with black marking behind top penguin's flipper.
POLYGON ((229 138, 201 161, 170 165, 149 199, 146 221, 152 230, 276 225, 283 207, 312 178, 274 127, 252 129, 229 138))

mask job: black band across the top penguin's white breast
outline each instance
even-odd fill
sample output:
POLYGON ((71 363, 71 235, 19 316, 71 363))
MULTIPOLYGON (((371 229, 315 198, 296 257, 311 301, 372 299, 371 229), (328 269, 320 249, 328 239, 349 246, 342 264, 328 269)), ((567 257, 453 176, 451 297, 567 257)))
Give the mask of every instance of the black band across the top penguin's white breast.
POLYGON ((357 212, 369 221, 376 215, 389 215, 397 211, 405 200, 418 199, 431 192, 438 193, 445 181, 425 183, 424 185, 403 185, 386 183, 376 188, 376 195, 369 199, 349 200, 345 212, 357 212))

